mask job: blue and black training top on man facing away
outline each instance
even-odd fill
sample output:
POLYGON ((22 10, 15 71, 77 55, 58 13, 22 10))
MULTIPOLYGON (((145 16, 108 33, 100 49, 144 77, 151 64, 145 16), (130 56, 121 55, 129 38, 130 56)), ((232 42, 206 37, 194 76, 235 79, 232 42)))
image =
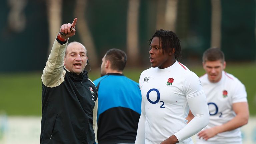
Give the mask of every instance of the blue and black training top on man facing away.
POLYGON ((141 113, 139 84, 108 73, 94 81, 98 89, 99 144, 134 143, 141 113))

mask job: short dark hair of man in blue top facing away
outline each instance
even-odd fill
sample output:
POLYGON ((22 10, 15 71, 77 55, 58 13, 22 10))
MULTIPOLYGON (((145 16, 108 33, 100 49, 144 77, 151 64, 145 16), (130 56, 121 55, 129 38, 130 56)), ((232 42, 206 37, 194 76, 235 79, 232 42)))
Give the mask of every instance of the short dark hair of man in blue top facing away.
POLYGON ((126 65, 127 56, 125 52, 120 49, 110 49, 106 52, 105 60, 111 62, 111 69, 123 71, 126 65))

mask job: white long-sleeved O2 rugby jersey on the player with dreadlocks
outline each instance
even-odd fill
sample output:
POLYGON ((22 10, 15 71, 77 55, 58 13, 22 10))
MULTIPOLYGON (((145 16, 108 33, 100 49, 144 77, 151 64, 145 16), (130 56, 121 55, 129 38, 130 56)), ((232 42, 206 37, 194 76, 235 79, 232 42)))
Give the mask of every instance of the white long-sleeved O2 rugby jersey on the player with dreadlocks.
POLYGON ((206 96, 198 76, 176 61, 165 69, 143 71, 139 84, 145 118, 143 122, 140 119, 135 143, 159 144, 175 134, 179 143, 193 144, 190 137, 209 121, 206 96), (196 116, 187 125, 189 108, 196 116))

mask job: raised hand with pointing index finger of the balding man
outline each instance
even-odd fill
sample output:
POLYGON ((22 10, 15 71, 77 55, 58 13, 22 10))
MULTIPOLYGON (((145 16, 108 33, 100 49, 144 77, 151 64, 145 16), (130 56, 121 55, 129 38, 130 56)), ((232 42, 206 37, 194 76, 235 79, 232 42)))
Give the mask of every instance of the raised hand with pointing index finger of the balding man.
POLYGON ((76 29, 75 29, 76 21, 77 21, 77 18, 74 18, 74 21, 72 22, 72 24, 71 23, 63 24, 60 27, 59 35, 60 35, 61 38, 67 39, 67 38, 72 37, 73 35, 75 35, 75 33, 76 33, 76 29))

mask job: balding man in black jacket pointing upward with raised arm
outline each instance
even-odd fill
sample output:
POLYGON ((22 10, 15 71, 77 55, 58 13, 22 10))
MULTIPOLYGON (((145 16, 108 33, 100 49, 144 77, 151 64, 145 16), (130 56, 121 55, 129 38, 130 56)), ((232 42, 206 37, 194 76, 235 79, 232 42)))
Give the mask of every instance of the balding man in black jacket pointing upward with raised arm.
POLYGON ((93 144, 98 92, 84 71, 87 50, 75 35, 77 18, 63 24, 42 75, 41 144, 93 144))

